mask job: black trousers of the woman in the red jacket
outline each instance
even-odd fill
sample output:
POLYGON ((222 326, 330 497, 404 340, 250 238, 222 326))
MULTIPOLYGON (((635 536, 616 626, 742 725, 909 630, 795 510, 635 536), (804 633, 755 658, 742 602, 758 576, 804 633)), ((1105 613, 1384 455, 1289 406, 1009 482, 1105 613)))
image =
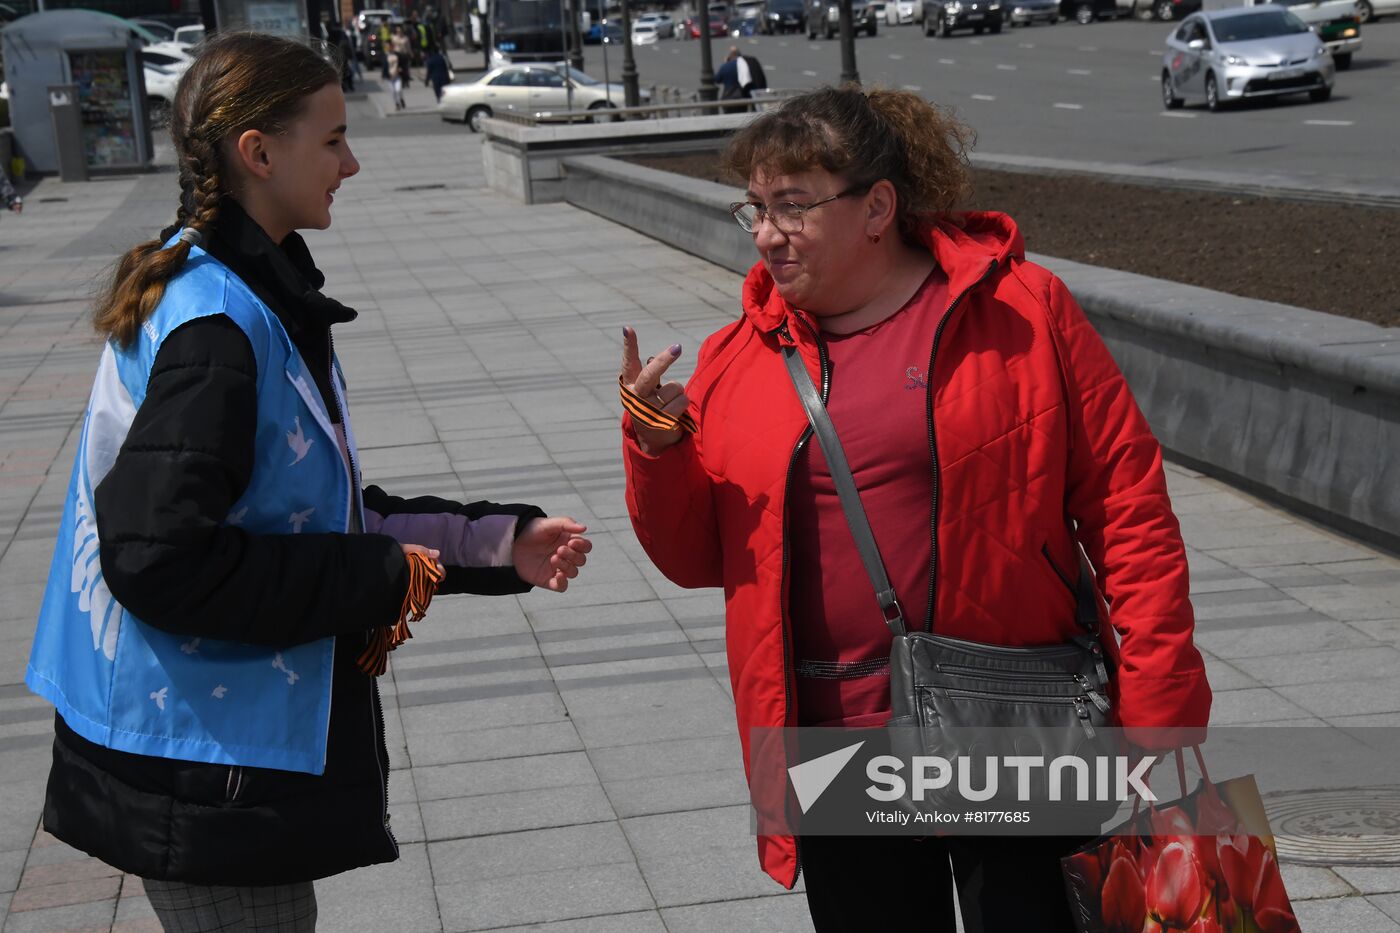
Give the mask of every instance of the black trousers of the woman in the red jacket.
POLYGON ((1061 836, 802 836, 816 933, 1075 933, 1061 836))

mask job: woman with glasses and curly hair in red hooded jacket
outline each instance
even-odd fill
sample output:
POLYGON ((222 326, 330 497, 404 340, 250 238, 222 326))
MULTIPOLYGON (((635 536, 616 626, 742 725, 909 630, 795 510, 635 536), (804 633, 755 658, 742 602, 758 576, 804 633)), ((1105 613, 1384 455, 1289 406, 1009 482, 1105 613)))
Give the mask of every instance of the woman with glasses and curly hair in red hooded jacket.
MULTIPOLYGON (((1198 727, 1186 552, 1162 452, 1064 283, 997 213, 952 213, 969 130, 903 91, 820 90, 750 123, 727 154, 759 262, 743 314, 685 387, 672 346, 622 381, 697 430, 624 416, 627 503, 675 583, 724 587, 741 741, 752 728, 881 726, 889 629, 783 364, 797 346, 841 437, 904 616, 994 644, 1075 635, 1082 545, 1117 639, 1119 719, 1198 727)), ((816 929, 1074 930, 1064 841, 760 836, 816 929), (799 846, 801 843, 801 846, 799 846), (952 870, 949 871, 949 864, 952 870), (921 897, 892 881, 920 878, 921 897)))

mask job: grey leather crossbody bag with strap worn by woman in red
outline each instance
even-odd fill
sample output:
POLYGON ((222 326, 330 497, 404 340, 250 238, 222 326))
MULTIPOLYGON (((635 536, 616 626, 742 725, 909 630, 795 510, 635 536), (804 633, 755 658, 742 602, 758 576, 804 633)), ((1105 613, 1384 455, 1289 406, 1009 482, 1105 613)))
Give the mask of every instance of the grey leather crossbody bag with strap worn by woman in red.
POLYGON ((1070 642, 1008 647, 909 632, 826 405, 797 349, 784 346, 783 359, 826 454, 841 511, 893 636, 889 727, 917 734, 917 748, 906 751, 953 761, 974 744, 979 754, 994 751, 995 735, 1007 730, 1005 740, 1019 749, 1032 737, 1046 761, 1116 754, 1116 740, 1103 731, 1113 712, 1109 671, 1099 642, 1098 594, 1082 552, 1075 619, 1084 632, 1070 642))

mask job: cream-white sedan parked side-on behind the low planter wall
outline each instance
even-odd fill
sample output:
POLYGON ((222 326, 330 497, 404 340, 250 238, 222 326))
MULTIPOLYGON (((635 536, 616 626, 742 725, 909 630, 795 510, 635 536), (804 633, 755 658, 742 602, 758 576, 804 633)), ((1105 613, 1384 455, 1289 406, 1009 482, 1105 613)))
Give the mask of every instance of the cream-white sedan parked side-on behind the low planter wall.
POLYGON ((622 106, 622 95, 612 85, 595 81, 582 71, 574 71, 570 78, 566 81, 553 64, 505 64, 470 84, 448 84, 442 88, 438 113, 445 120, 465 120, 473 133, 479 133, 482 120, 496 113, 567 111, 570 91, 575 111, 622 106))

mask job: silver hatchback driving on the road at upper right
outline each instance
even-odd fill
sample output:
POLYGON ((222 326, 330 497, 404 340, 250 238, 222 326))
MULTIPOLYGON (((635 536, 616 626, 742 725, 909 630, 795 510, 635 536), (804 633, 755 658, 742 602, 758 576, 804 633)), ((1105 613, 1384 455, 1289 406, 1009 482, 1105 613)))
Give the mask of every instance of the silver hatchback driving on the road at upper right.
POLYGON ((1282 6, 1193 13, 1166 39, 1162 104, 1231 101, 1280 94, 1331 97, 1336 64, 1322 39, 1282 6))

